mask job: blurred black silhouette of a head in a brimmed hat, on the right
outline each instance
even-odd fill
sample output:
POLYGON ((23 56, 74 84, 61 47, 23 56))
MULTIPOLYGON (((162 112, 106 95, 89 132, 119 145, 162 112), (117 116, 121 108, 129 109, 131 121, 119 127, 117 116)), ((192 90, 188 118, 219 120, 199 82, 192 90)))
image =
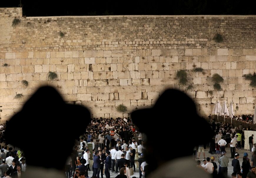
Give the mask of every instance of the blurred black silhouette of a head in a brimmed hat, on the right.
POLYGON ((169 137, 173 149, 178 148, 179 154, 162 156, 166 160, 192 155, 195 146, 208 142, 214 134, 207 121, 197 114, 193 100, 179 90, 164 91, 152 108, 136 110, 131 117, 139 131, 147 135, 147 145, 165 143, 169 137), (188 134, 184 137, 183 133, 188 134))

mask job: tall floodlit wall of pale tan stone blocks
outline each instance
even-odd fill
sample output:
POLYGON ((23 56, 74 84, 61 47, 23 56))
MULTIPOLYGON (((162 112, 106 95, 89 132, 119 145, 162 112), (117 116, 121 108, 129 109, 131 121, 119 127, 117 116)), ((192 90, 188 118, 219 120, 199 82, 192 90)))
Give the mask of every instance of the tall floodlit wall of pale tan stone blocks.
POLYGON ((21 8, 0 8, 0 26, 2 121, 41 85, 56 86, 93 117, 129 116, 167 88, 186 90, 204 117, 217 99, 232 100, 236 115, 253 113, 256 91, 242 75, 256 72, 256 16, 22 17, 21 8), (213 41, 216 33, 224 42, 213 41), (187 70, 192 89, 179 86, 179 70, 187 70), (58 79, 47 81, 49 71, 58 79), (215 73, 224 78, 221 91, 210 80, 215 73), (19 93, 24 97, 14 99, 19 93), (119 104, 127 113, 116 111, 119 104))

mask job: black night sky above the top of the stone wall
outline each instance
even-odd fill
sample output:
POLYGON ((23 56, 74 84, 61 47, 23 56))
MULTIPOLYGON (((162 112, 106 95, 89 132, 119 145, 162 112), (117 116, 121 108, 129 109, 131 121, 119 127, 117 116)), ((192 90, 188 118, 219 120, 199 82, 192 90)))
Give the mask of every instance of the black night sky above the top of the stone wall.
MULTIPOLYGON (((18 7, 20 0, 0 0, 0 7, 18 7)), ((250 15, 255 0, 21 0, 25 16, 64 15, 250 15)))

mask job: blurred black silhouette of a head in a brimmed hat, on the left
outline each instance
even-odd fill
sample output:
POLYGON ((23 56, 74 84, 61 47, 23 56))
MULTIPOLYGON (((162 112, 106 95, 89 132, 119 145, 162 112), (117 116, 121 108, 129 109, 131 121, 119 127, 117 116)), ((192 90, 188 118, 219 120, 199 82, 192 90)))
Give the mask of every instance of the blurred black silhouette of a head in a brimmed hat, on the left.
POLYGON ((74 139, 85 132, 89 122, 90 112, 84 106, 66 104, 54 88, 41 87, 9 121, 6 143, 24 150, 29 165, 61 170, 72 152, 74 139), (15 130, 21 127, 22 137, 17 139, 15 130), (40 152, 44 158, 61 155, 58 164, 49 159, 34 161, 40 150, 44 150, 40 152))

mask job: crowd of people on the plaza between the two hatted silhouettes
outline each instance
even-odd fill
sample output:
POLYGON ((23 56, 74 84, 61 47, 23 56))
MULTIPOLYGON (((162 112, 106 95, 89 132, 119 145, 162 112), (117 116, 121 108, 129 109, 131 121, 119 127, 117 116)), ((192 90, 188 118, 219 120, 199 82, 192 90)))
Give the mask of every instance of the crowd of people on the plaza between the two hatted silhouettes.
POLYGON ((84 174, 88 178, 89 161, 93 160, 92 177, 110 177, 110 171, 118 174, 116 177, 131 178, 135 172, 136 149, 139 155, 139 178, 145 177, 147 163, 143 155, 143 139, 145 135, 137 131, 130 118, 93 118, 85 135, 80 137, 80 144, 74 146, 73 153, 66 165, 67 178, 79 177, 84 174), (88 140, 90 135, 91 140, 88 140), (87 141, 93 142, 91 155, 87 141), (95 147, 99 142, 99 147, 95 147), (79 146, 78 146, 79 145, 79 146), (79 157, 78 155, 80 155, 79 157), (131 172, 130 172, 131 171, 131 172))

